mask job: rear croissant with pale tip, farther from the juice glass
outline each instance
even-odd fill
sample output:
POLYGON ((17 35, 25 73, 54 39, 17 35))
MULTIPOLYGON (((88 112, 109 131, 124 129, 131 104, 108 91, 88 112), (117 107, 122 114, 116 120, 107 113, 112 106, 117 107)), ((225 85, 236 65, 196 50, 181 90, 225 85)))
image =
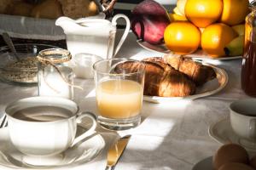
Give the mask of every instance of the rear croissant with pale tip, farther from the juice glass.
POLYGON ((216 77, 216 73, 212 67, 201 65, 201 63, 195 62, 193 59, 185 59, 182 56, 173 56, 170 54, 166 54, 164 59, 175 70, 187 75, 197 86, 216 77))

